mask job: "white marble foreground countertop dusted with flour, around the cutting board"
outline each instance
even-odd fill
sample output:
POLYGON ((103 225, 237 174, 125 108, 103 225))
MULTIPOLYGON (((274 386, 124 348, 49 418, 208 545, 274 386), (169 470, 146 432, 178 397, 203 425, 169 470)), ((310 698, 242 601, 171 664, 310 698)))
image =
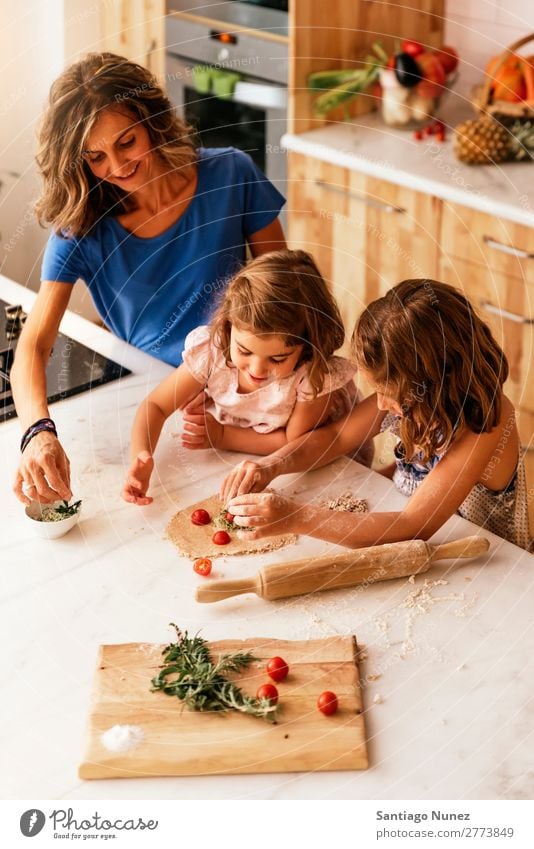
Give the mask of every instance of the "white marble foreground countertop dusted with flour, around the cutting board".
MULTIPOLYGON (((28 306, 33 296, 4 279, 0 297, 28 306)), ((177 508, 216 491, 238 455, 187 452, 172 436, 179 423, 171 422, 158 449, 154 504, 140 510, 122 502, 136 404, 168 367, 76 316, 62 329, 134 374, 52 407, 75 495, 83 498, 79 526, 60 540, 29 536, 23 508, 8 491, 18 422, 0 425, 2 797, 531 799, 532 557, 488 534, 487 557, 454 568, 436 564, 414 584, 401 579, 283 602, 242 596, 198 605, 194 588, 203 579, 163 539, 164 528, 177 508), (356 634, 368 655, 360 670, 370 768, 80 781, 97 646, 167 642, 171 621, 208 639, 356 634)), ((350 487, 373 510, 404 501, 388 480, 346 459, 281 484, 308 498, 350 487)), ((455 517, 435 541, 479 530, 455 517)), ((283 556, 328 549, 301 538, 283 556)), ((214 574, 250 574, 278 557, 221 557, 214 574)))

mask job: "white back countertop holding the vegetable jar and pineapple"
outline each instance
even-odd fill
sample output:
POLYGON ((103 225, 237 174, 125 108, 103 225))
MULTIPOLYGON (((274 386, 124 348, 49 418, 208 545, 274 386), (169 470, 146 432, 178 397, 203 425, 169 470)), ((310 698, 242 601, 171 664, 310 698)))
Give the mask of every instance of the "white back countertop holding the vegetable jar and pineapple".
POLYGON ((534 164, 459 162, 452 150, 453 128, 466 117, 473 118, 474 112, 453 95, 439 115, 447 127, 445 142, 432 137, 417 141, 412 131, 388 127, 373 112, 354 121, 286 134, 281 143, 296 153, 534 226, 534 164))

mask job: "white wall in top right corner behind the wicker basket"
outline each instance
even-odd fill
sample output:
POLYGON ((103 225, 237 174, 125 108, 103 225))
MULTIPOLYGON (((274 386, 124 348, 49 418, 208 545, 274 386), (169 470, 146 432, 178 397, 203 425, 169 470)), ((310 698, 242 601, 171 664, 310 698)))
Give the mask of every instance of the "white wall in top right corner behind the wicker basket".
MULTIPOLYGON (((534 33, 533 0, 446 0, 445 14, 445 42, 461 60, 455 89, 466 95, 482 81, 491 56, 534 33)), ((534 41, 521 52, 534 54, 534 41)))

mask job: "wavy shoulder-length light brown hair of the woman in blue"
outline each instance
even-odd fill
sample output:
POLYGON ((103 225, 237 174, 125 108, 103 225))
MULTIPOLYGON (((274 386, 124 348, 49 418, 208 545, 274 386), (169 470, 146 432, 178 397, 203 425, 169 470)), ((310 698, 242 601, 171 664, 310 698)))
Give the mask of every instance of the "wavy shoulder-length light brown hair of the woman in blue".
POLYGON ((176 116, 150 71, 113 53, 90 53, 68 67, 50 89, 37 153, 44 179, 35 206, 41 225, 78 236, 108 213, 131 209, 126 193, 97 180, 83 155, 91 129, 108 108, 131 115, 145 127, 169 171, 195 162, 193 131, 176 116))

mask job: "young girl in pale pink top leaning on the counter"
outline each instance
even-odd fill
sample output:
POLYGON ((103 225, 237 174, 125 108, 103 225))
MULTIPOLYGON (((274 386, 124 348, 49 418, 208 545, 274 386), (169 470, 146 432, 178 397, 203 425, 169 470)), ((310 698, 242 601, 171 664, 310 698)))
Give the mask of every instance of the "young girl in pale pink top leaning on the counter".
POLYGON ((185 408, 185 447, 254 454, 345 415, 356 398, 356 368, 333 355, 343 340, 339 310, 309 254, 276 251, 250 262, 211 324, 187 337, 183 364, 137 411, 124 500, 152 501, 153 453, 178 409, 185 408))

